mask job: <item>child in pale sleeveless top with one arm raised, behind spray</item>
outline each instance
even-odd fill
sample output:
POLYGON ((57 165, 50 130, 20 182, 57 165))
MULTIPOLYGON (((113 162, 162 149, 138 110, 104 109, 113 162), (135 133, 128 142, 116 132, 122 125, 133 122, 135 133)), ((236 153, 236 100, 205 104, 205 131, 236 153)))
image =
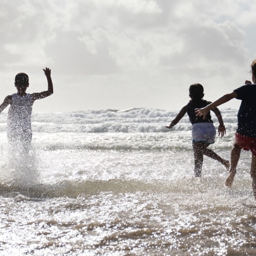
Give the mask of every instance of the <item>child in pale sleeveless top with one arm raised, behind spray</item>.
POLYGON ((8 142, 21 152, 28 152, 32 140, 31 114, 32 106, 37 99, 43 99, 53 94, 51 70, 46 68, 44 73, 48 82, 48 90, 44 92, 27 94, 29 86, 28 75, 18 73, 15 76, 17 93, 8 95, 0 105, 0 113, 10 104, 7 120, 8 142))

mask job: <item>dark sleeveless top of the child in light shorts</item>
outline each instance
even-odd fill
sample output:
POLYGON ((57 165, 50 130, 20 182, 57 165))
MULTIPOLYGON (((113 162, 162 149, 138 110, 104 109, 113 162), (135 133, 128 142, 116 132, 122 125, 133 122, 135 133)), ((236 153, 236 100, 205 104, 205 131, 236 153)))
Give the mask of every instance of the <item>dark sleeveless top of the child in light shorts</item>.
POLYGON ((190 102, 188 102, 188 110, 186 113, 188 113, 188 116, 190 118, 190 122, 192 123, 192 125, 194 123, 213 123, 212 118, 210 116, 210 111, 207 114, 207 116, 205 117, 205 119, 203 119, 203 116, 196 116, 195 113, 195 109, 197 108, 202 108, 202 107, 206 107, 207 105, 209 105, 211 102, 209 101, 205 101, 205 100, 201 100, 199 102, 197 102, 195 104, 195 102, 193 100, 190 100, 190 102))

